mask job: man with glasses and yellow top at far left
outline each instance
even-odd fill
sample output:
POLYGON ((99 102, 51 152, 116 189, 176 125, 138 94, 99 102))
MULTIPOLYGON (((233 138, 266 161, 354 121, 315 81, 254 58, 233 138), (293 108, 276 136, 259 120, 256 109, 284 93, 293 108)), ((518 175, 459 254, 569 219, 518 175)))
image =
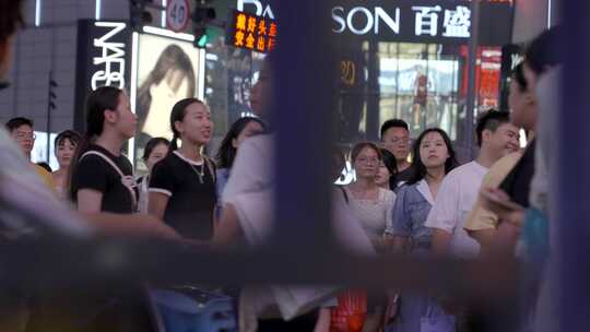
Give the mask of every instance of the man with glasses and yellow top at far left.
POLYGON ((21 150, 31 163, 31 166, 39 175, 45 186, 51 190, 55 190, 51 174, 31 161, 31 152, 33 151, 36 139, 35 131, 33 130, 33 120, 23 117, 12 118, 7 122, 5 126, 10 135, 19 144, 19 146, 21 146, 21 150))

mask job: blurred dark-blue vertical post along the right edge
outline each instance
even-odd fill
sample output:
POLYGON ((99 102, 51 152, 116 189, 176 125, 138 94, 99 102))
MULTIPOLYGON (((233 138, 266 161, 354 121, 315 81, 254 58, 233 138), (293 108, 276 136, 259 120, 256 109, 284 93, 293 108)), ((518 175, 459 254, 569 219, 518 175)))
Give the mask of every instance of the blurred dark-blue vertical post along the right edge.
MULTIPOLYGON (((558 114, 558 170, 555 183, 556 225, 559 259, 559 331, 588 330, 590 327, 590 25, 589 1, 563 0, 563 28, 559 47, 564 54, 562 107, 558 114)), ((554 224, 555 223, 555 224, 554 224)))

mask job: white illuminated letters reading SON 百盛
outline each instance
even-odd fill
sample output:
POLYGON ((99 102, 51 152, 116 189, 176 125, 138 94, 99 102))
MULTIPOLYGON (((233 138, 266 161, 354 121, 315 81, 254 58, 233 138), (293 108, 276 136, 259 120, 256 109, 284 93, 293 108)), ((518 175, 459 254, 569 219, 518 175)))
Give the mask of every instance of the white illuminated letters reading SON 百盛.
POLYGON ((413 34, 415 37, 469 38, 471 36, 471 10, 468 5, 455 4, 394 7, 344 7, 332 9, 332 32, 350 32, 357 36, 367 34, 413 34), (386 31, 384 31, 386 29, 386 31))

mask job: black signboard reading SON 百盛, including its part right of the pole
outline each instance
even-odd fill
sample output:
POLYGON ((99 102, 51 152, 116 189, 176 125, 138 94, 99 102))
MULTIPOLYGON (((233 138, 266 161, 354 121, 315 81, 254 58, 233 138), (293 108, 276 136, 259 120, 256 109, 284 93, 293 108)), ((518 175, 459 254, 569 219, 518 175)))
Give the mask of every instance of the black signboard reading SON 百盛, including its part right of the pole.
MULTIPOLYGON (((381 42, 464 44, 471 37, 469 1, 381 0, 370 4, 332 8, 332 32, 381 42)), ((481 42, 505 44, 511 35, 511 2, 486 1, 481 7, 481 42)))

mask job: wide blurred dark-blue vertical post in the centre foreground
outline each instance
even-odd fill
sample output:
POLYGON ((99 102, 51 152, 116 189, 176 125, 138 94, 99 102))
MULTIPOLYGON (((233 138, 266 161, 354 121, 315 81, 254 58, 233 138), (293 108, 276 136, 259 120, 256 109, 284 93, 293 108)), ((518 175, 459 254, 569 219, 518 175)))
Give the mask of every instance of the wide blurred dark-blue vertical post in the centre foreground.
POLYGON ((278 179, 273 239, 290 247, 287 251, 297 253, 297 259, 321 253, 330 232, 329 146, 339 78, 335 38, 329 35, 330 2, 273 3, 280 28, 273 55, 278 63, 273 70, 278 179))

